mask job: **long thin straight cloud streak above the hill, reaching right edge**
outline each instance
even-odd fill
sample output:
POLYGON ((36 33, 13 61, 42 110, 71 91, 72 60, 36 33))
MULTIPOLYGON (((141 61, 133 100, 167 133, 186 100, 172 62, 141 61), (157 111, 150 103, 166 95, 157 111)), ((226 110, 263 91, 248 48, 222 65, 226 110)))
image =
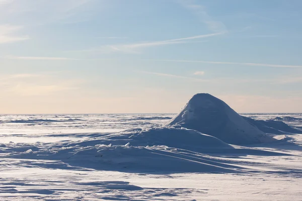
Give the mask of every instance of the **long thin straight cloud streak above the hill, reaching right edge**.
POLYGON ((155 61, 188 62, 188 63, 209 63, 209 64, 234 64, 234 65, 245 65, 245 66, 265 66, 265 67, 274 67, 274 68, 302 68, 302 65, 280 65, 280 64, 265 64, 265 63, 240 63, 240 62, 224 62, 224 61, 173 60, 173 59, 155 59, 155 61))

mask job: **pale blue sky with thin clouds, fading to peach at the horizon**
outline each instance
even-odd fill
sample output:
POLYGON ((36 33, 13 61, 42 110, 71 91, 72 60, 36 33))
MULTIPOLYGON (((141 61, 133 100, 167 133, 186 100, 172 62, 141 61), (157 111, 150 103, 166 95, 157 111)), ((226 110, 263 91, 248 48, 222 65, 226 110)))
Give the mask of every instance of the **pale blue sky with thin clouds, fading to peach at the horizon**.
POLYGON ((0 0, 0 114, 302 112, 302 1, 0 0))

